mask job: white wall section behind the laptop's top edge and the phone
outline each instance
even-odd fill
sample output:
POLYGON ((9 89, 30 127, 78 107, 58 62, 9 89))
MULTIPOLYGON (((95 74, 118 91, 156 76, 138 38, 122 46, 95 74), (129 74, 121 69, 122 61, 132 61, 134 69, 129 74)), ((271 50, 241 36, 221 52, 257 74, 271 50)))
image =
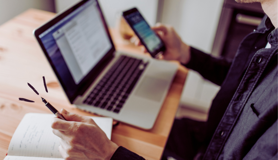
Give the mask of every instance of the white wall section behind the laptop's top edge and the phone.
MULTIPOLYGON (((56 11, 60 12, 64 8, 72 5, 80 0, 55 0, 56 11)), ((103 11, 104 17, 108 26, 115 27, 116 17, 120 12, 137 7, 144 18, 154 25, 156 22, 158 0, 99 0, 100 7, 103 11)))

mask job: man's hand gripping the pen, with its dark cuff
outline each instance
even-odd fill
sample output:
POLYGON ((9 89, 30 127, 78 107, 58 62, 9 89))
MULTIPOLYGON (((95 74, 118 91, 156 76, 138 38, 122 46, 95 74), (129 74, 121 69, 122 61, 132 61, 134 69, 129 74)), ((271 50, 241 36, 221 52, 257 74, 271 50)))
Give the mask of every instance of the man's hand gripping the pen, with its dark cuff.
POLYGON ((54 117, 53 133, 60 137, 59 151, 65 160, 144 160, 143 157, 110 141, 92 118, 70 113, 61 114, 68 120, 54 117))

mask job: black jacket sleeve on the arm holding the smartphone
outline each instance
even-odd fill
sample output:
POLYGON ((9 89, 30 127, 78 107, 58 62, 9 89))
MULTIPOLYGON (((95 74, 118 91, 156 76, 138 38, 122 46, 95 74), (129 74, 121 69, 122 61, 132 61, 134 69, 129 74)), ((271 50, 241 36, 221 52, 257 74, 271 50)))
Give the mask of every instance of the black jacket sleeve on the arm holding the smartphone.
POLYGON ((212 57, 191 47, 190 61, 184 66, 199 72, 207 80, 221 86, 231 66, 231 61, 212 57))

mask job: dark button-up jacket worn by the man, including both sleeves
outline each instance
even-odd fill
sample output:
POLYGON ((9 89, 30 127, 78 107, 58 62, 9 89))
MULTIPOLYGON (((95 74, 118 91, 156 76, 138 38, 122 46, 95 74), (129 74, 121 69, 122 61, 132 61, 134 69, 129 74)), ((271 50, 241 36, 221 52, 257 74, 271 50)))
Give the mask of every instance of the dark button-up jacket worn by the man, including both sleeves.
MULTIPOLYGON (((207 121, 203 159, 277 159, 277 29, 268 17, 232 62, 191 48, 186 67, 221 85, 207 121), (267 41, 271 48, 265 49, 267 41)), ((144 159, 119 147, 111 160, 144 159)))

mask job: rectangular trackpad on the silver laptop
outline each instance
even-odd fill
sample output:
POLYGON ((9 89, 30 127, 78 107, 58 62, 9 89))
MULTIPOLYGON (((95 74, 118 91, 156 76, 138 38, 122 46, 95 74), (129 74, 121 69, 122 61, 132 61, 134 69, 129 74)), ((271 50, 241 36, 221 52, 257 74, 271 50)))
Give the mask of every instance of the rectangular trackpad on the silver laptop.
POLYGON ((155 77, 144 77, 135 91, 135 95, 150 100, 161 101, 168 81, 155 77))

